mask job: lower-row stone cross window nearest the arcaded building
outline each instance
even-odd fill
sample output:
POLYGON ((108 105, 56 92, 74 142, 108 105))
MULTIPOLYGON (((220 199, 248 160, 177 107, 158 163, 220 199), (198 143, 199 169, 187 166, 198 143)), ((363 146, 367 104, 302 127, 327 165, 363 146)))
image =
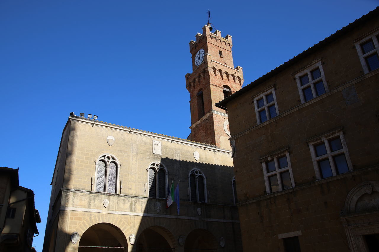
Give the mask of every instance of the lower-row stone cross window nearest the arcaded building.
POLYGON ((260 158, 266 193, 275 193, 295 186, 288 148, 260 158))

